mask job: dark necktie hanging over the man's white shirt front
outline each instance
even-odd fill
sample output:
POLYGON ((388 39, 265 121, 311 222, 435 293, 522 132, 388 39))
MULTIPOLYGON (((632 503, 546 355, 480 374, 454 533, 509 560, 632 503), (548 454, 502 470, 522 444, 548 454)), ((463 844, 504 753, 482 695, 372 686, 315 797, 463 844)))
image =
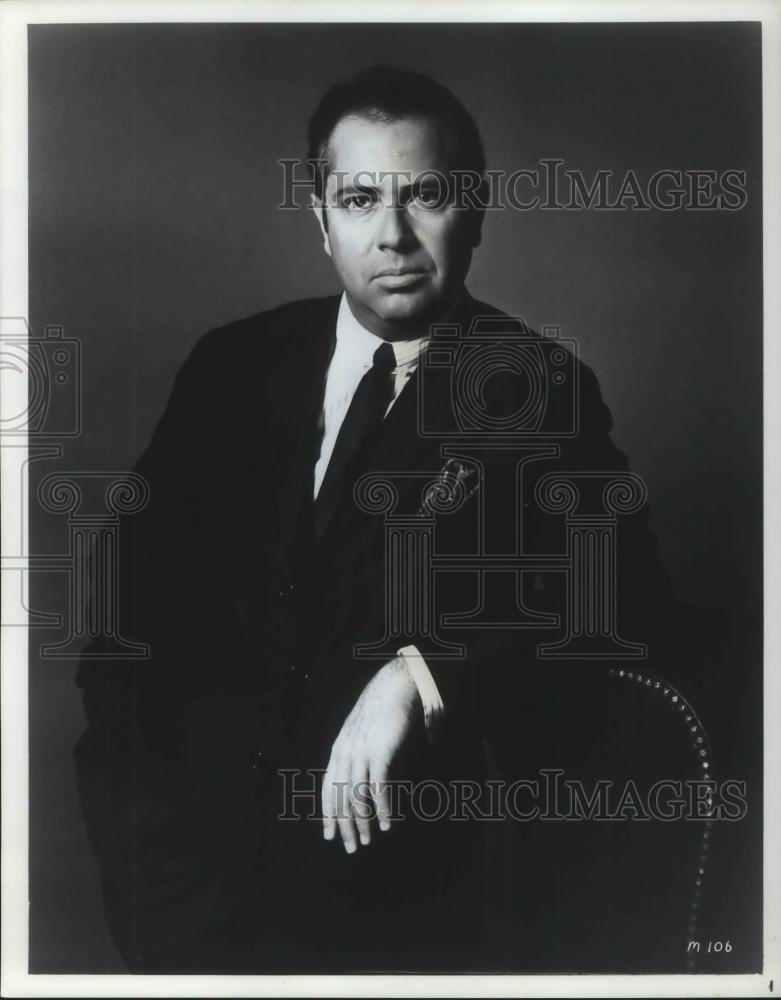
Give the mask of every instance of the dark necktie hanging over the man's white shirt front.
POLYGON ((323 482, 315 501, 315 532, 319 539, 342 499, 351 499, 360 460, 382 426, 385 411, 394 396, 396 356, 390 344, 374 352, 374 364, 355 390, 350 408, 334 444, 323 482), (348 491, 350 496, 348 496, 348 491))

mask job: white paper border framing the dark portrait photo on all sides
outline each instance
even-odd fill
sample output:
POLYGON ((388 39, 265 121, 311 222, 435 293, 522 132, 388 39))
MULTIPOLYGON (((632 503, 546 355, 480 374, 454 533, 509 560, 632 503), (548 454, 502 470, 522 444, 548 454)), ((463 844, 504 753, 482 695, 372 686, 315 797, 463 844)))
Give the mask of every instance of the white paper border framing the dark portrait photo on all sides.
MULTIPOLYGON (((764 964, 755 975, 130 976, 30 975, 28 959, 27 632, 2 652, 2 981, 8 997, 771 996, 781 990, 781 5, 773 0, 6 0, 0 6, 0 317, 28 316, 27 26, 144 22, 761 21, 764 259, 764 964)), ((24 410, 0 371, 0 414, 24 410)), ((17 451, 16 456, 20 453, 17 451)), ((0 452, 3 550, 19 539, 23 496, 0 452)), ((26 539, 22 540, 28 551, 26 539)), ((24 586, 24 584, 23 584, 24 586)), ((2 590, 3 605, 14 596, 2 590)), ((26 604, 26 592, 22 595, 26 604)))

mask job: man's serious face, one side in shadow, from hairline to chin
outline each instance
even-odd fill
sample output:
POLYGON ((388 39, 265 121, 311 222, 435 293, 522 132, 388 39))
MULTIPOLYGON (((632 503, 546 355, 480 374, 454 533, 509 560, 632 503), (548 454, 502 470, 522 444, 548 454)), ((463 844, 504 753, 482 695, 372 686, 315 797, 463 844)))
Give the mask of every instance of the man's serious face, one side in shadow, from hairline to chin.
POLYGON ((423 332, 458 294, 480 242, 476 213, 442 204, 436 125, 349 116, 329 145, 324 199, 313 204, 353 314, 385 339, 423 332))

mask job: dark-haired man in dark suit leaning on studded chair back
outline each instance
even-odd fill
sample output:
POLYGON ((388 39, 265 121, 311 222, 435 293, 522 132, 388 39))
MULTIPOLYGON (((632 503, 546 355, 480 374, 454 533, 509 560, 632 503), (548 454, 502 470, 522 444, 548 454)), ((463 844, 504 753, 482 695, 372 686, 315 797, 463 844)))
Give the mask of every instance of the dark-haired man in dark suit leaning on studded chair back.
MULTIPOLYGON (((478 372, 485 425, 461 426, 437 329, 487 321, 543 351, 546 371, 547 356, 464 287, 483 212, 453 182, 485 160, 458 100, 375 68, 324 96, 309 139, 344 292, 197 344, 137 465, 150 505, 122 530, 122 629, 151 658, 91 648, 79 671, 82 800, 110 926, 140 971, 479 967, 483 831, 420 809, 394 822, 388 779, 501 773, 529 759, 540 719, 567 717, 537 659, 561 574, 456 565, 432 595, 412 559, 398 590, 386 528, 406 518, 414 546, 425 524, 456 558, 511 555, 522 509, 521 548, 544 557, 563 538, 533 502, 544 476, 626 471, 574 360, 545 381, 537 450, 486 434, 530 398, 512 364, 478 372)), ((640 583, 615 636, 648 642, 672 597, 644 511, 627 537, 619 569, 640 583)))

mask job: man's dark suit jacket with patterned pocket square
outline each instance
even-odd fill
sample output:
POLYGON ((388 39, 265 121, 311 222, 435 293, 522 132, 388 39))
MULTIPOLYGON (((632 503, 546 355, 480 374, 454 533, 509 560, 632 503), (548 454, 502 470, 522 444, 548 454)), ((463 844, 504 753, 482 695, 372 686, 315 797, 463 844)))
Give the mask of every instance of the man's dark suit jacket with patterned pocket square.
MULTIPOLYGON (((356 644, 376 644, 386 634, 385 519, 366 504, 357 505, 347 491, 323 537, 316 541, 313 533, 312 477, 338 305, 338 298, 295 302, 203 337, 177 376, 136 466, 149 482, 151 501, 121 529, 120 626, 125 637, 150 643, 152 652, 147 661, 128 665, 99 659, 94 645, 88 650, 78 683, 89 725, 77 747, 107 914, 133 968, 177 971, 199 963, 207 969, 220 963, 241 968, 247 935, 273 942, 275 954, 284 955, 290 946, 289 966, 301 967, 323 924, 316 919, 302 929, 296 951, 296 942, 280 932, 284 919, 303 928, 301 910, 317 914, 323 902, 315 883, 344 887, 364 864, 354 862, 349 876, 339 867, 341 858, 331 871, 327 865, 302 868, 302 856, 329 850, 335 857, 334 845, 321 844, 316 823, 288 824, 280 840, 281 824, 270 820, 269 804, 280 768, 325 767, 356 697, 395 652, 391 635, 388 657, 355 654, 356 644), (303 846, 288 850, 285 867, 281 841, 289 847, 296 838, 303 846), (251 873, 257 873, 256 881, 251 873), (293 895, 293 883, 285 880, 296 878, 295 906, 285 917, 281 900, 293 895)), ((498 310, 465 295, 453 323, 465 333, 476 317, 544 346, 498 310)), ((542 363, 544 368, 544 358, 542 363)), ((610 415, 596 379, 580 362, 568 364, 563 383, 546 376, 544 398, 535 404, 539 419, 516 442, 548 447, 524 466, 520 493, 516 463, 506 448, 481 450, 473 427, 461 433, 460 390, 447 363, 426 370, 423 392, 418 391, 422 368, 412 377, 356 475, 392 480, 398 488, 393 516, 414 515, 426 482, 448 456, 461 455, 477 488, 455 512, 433 518, 437 556, 474 555, 480 545, 512 554, 521 504, 523 550, 561 554, 566 524, 541 509, 535 485, 555 471, 605 474, 627 468, 610 439, 610 415), (557 428, 577 433, 557 436, 557 428)), ((507 414, 529 396, 525 377, 500 374, 483 385, 486 412, 499 425, 505 426, 507 414)), ((669 674, 669 643, 659 626, 673 620, 675 605, 645 508, 627 518, 620 532, 619 631, 646 643, 669 674)), ((498 585, 494 578, 482 587, 474 572, 441 574, 434 620, 481 604, 482 622, 489 624, 506 622, 507 615, 517 618, 524 604, 538 614, 561 612, 560 571, 541 564, 520 579, 516 594, 507 580, 498 585)), ((407 773, 476 776, 483 774, 486 759, 502 773, 515 773, 519 747, 527 764, 533 763, 529 748, 543 745, 535 742, 538 728, 567 728, 561 702, 567 678, 577 675, 581 690, 583 671, 593 674, 599 666, 541 662, 539 642, 556 637, 549 628, 475 629, 463 622, 440 627, 439 640, 462 645, 456 652, 432 637, 430 628, 405 634, 400 644, 418 644, 447 712, 434 744, 421 739, 416 745, 407 773), (511 715, 513 706, 518 712, 511 715)), ((452 830, 450 835, 455 836, 452 830)), ((405 874, 388 867, 387 850, 380 862, 386 873, 395 872, 397 917, 409 922, 419 907, 426 954, 436 954, 435 964, 449 968, 458 964, 458 931, 452 929, 436 952, 431 911, 416 893, 430 870, 425 865, 436 857, 443 874, 432 906, 441 904, 454 872, 470 867, 464 852, 474 841, 459 833, 448 852, 443 839, 425 837, 424 846, 410 842, 417 845, 412 854, 419 869, 405 890, 399 888, 405 874), (450 867, 441 860, 445 856, 453 860, 450 867)), ((408 874, 406 862, 404 871, 408 874)), ((346 907, 357 913, 358 924, 369 926, 369 904, 359 886, 373 877, 366 872, 353 880, 356 895, 346 907)), ((471 900, 463 911, 474 916, 477 897, 463 889, 461 898, 471 900)), ((386 894, 390 912, 389 900, 386 894)), ((372 926, 373 933, 391 935, 389 948, 398 946, 390 924, 372 926)), ((464 940, 473 929, 465 917, 464 940)), ((387 967, 387 954, 375 949, 366 962, 387 967)), ((319 961, 318 967, 327 967, 322 955, 319 961)))

